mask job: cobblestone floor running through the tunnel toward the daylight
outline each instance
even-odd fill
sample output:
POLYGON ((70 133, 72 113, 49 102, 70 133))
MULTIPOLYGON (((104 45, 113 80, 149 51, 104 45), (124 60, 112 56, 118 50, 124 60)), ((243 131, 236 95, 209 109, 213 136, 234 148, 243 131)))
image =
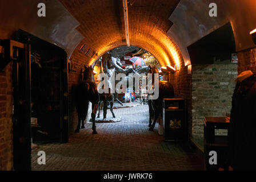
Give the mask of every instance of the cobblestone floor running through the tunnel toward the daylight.
MULTIPOLYGON (((70 136, 69 143, 41 144, 32 150, 33 170, 202 170, 202 160, 182 143, 165 142, 158 125, 148 131, 148 106, 115 109, 117 123, 91 123, 70 136), (37 164, 37 152, 46 152, 46 164, 37 164)), ((107 114, 111 114, 108 110, 107 114)))

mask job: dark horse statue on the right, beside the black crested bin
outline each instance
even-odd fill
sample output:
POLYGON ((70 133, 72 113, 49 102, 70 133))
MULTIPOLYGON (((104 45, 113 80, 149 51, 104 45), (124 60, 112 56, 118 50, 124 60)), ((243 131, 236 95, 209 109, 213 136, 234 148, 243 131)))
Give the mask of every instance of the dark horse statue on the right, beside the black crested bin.
MULTIPOLYGON (((150 66, 149 66, 150 67, 150 66)), ((157 67, 150 67, 149 73, 153 74, 152 87, 154 87, 154 74, 158 73, 157 67)), ((149 130, 153 131, 155 127, 155 122, 163 113, 163 98, 174 98, 173 85, 168 81, 159 80, 159 97, 157 100, 148 100, 149 103, 149 130), (154 117, 154 122, 152 123, 151 118, 154 117)))

